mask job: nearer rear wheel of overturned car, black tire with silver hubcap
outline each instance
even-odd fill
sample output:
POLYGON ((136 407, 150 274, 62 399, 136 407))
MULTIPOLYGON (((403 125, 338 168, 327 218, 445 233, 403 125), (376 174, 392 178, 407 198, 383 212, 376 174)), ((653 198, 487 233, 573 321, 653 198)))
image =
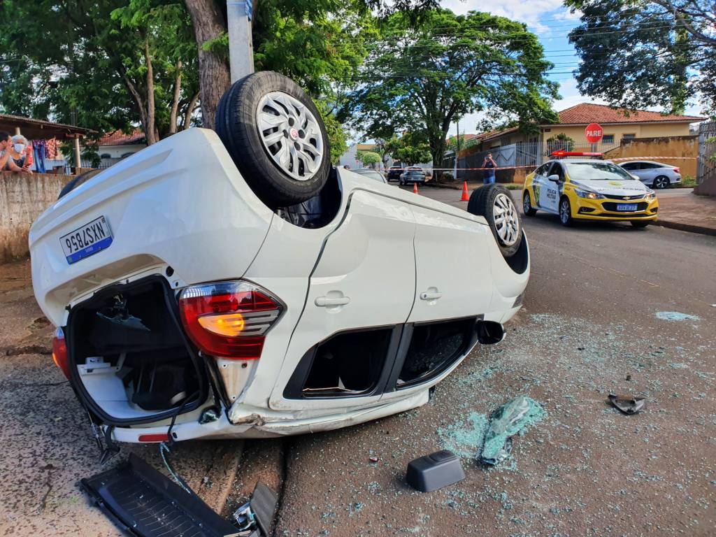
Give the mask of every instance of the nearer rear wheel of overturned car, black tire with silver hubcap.
POLYGON ((269 208, 313 198, 328 180, 331 153, 321 115, 304 90, 279 73, 235 82, 216 110, 216 133, 269 208))

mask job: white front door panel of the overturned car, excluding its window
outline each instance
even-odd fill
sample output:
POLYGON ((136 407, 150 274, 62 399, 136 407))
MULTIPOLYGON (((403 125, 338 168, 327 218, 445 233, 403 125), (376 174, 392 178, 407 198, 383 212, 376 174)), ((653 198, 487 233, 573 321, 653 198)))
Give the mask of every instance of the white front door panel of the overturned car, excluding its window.
POLYGON ((415 216, 415 304, 408 322, 458 319, 484 314, 492 286, 490 229, 467 218, 412 206, 415 216))

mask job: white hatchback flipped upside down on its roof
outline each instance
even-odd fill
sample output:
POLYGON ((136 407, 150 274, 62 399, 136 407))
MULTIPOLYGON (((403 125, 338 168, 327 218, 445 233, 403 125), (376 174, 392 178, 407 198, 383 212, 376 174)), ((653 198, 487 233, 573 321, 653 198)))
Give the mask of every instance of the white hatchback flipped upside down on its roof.
POLYGON ((502 339, 530 266, 511 203, 332 168, 311 100, 259 72, 217 132, 69 185, 30 232, 34 291, 105 440, 330 430, 424 404, 502 339))

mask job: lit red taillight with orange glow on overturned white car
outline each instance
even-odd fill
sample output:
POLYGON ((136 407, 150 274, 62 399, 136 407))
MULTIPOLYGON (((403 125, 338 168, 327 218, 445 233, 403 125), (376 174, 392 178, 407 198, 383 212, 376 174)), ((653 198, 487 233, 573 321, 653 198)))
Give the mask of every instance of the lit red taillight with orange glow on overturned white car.
POLYGON ((184 328, 202 352, 241 360, 261 357, 266 332, 281 314, 279 301, 245 281, 187 287, 179 309, 184 328))

